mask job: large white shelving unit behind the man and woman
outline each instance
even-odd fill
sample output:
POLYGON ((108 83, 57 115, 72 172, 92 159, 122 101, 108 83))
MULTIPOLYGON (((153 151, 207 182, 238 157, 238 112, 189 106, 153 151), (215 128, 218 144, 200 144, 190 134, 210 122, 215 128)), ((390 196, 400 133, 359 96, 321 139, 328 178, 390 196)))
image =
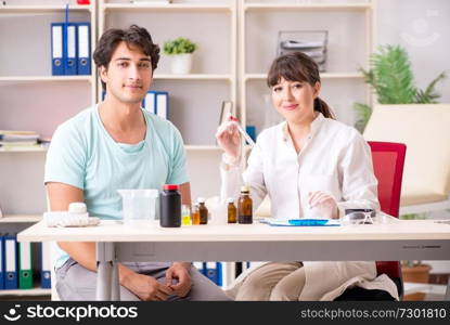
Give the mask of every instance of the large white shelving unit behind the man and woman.
MULTIPOLYGON (((259 114, 255 113, 255 108, 266 105, 261 99, 267 92, 265 79, 268 64, 275 54, 273 35, 278 29, 287 27, 305 29, 298 17, 305 18, 305 24, 310 24, 309 29, 336 27, 338 32, 330 35, 330 40, 334 41, 336 36, 345 47, 352 44, 348 40, 351 39, 350 36, 345 35, 345 31, 351 29, 351 32, 357 34, 358 57, 352 53, 343 55, 342 48, 333 48, 330 44, 329 60, 338 52, 337 54, 345 56, 346 61, 343 65, 345 68, 334 62, 330 70, 321 74, 322 89, 325 93, 323 99, 326 102, 330 100, 331 106, 334 107, 333 92, 330 95, 326 93, 329 89, 334 88, 339 90, 337 95, 334 93, 335 98, 355 90, 359 98, 353 102, 370 103, 370 89, 363 83, 363 76, 357 72, 357 65, 369 66, 369 54, 374 43, 375 12, 374 0, 361 0, 357 3, 346 3, 345 0, 340 3, 331 2, 332 0, 320 3, 314 3, 313 0, 307 3, 297 0, 201 1, 172 0, 173 3, 169 4, 152 4, 130 3, 129 0, 99 0, 91 1, 90 5, 77 5, 75 0, 70 0, 70 17, 85 21, 88 18, 91 22, 92 50, 106 28, 128 27, 131 24, 146 27, 160 47, 167 39, 179 36, 189 37, 200 44, 198 51, 194 54, 193 73, 189 75, 172 75, 169 70, 170 60, 162 53, 152 87, 155 90, 168 90, 173 95, 170 106, 173 114, 171 119, 185 141, 194 199, 197 196, 209 197, 219 193, 218 165, 221 150, 217 146, 214 134, 221 101, 230 100, 236 103, 241 122, 252 123, 252 113, 254 116, 259 114), (318 15, 326 18, 311 20, 318 15), (345 29, 347 18, 349 24, 355 23, 361 28, 353 26, 345 29), (342 88, 344 91, 340 91, 342 88)), ((39 4, 39 0, 15 2, 20 4, 0 6, 0 129, 35 129, 34 126, 37 126, 39 131, 40 125, 43 123, 49 131, 54 131, 56 125, 98 102, 101 98, 100 80, 93 62, 91 76, 50 76, 48 23, 57 21, 57 17, 63 21, 64 4, 60 0, 46 1, 54 4, 39 4), (28 25, 28 21, 33 24, 28 25), (9 32, 11 30, 14 32, 9 32), (27 37, 17 37, 21 32, 27 37), (46 37, 39 38, 38 35, 46 37), (22 39, 25 39, 26 43, 21 43, 22 39), (4 50, 11 48, 9 44, 13 46, 12 50, 9 50, 13 53, 11 55, 4 50), (35 46, 30 51, 31 56, 26 56, 29 54, 28 51, 21 54, 24 52, 23 48, 29 44, 35 46), (47 50, 42 50, 43 48, 47 50), (21 62, 21 65, 17 65, 17 62, 21 62), (42 62, 44 64, 41 64, 42 62), (25 91, 27 95, 21 95, 25 91), (47 95, 40 96, 40 93, 47 95), (63 101, 63 98, 67 100, 63 101), (33 109, 24 108, 31 106, 30 99, 38 105, 40 102, 47 103, 46 108, 39 108, 42 109, 40 118, 37 118, 39 115, 33 109), (9 112, 13 113, 7 115, 5 109, 1 107, 3 105, 11 107, 9 112)), ((338 115, 345 110, 340 107, 345 106, 342 102, 336 106, 338 115)), ((3 213, 7 213, 0 219, 2 226, 23 225, 41 219, 37 213, 44 209, 44 192, 40 183, 44 153, 46 147, 0 148, 0 172, 2 185, 5 184, 0 186, 0 206, 3 207, 3 213), (8 172, 5 167, 9 168, 8 172), (12 206, 4 202, 12 199, 7 186, 15 186, 20 191, 21 197, 14 197, 17 202, 12 206), (18 209, 22 196, 27 199, 29 208, 18 209)), ((36 295, 42 291, 46 295, 49 292, 37 289, 36 295)), ((33 292, 35 291, 29 290, 29 295, 33 292)), ((23 291, 13 292, 21 294, 23 291)))

